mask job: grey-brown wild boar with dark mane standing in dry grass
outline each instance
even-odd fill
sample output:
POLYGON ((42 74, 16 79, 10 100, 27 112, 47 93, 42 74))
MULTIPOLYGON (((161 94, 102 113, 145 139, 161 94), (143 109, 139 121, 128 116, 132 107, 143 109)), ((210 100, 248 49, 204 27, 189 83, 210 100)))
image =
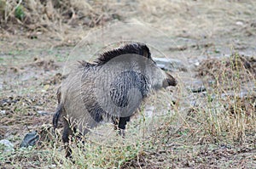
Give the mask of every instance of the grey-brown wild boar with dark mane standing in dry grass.
POLYGON ((101 54, 93 63, 82 61, 58 89, 59 117, 64 121, 62 140, 68 148, 74 132, 85 135, 101 121, 112 121, 119 131, 151 91, 176 86, 176 79, 161 70, 143 43, 127 44, 101 54))

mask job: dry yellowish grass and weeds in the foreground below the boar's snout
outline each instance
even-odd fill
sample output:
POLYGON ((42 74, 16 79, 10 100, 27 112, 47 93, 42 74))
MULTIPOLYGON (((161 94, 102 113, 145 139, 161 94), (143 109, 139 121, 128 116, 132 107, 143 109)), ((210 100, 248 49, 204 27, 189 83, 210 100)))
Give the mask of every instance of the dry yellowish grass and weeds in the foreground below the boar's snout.
MULTIPOLYGON (((231 61, 234 56, 220 63, 231 61)), ((231 67, 230 64, 224 66, 231 67)), ((224 76, 234 82, 238 73, 247 73, 251 78, 246 82, 255 84, 255 76, 244 66, 229 73, 224 76)), ((226 79, 218 78, 216 82, 223 84, 226 79)), ((246 95, 241 95, 240 89, 247 87, 246 82, 232 83, 232 93, 227 86, 209 86, 207 93, 200 97, 196 93, 196 104, 190 106, 188 102, 194 97, 182 84, 153 94, 129 123, 125 139, 105 124, 92 130, 84 143, 73 140, 72 160, 64 157, 61 128, 54 138, 48 127, 40 129, 41 144, 35 148, 16 149, 1 158, 5 165, 15 167, 253 167, 256 97, 251 88, 247 88, 246 95), (245 154, 246 159, 242 158, 245 154)))

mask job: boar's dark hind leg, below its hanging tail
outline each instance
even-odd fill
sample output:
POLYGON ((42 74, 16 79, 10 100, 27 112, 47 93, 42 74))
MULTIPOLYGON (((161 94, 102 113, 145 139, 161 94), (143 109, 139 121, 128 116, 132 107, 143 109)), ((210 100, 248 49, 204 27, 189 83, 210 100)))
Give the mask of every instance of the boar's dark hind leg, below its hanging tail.
POLYGON ((67 120, 64 121, 64 129, 63 129, 63 135, 62 135, 62 141, 65 144, 66 149, 66 157, 71 157, 72 150, 69 147, 70 139, 73 136, 73 130, 69 125, 69 122, 67 120))

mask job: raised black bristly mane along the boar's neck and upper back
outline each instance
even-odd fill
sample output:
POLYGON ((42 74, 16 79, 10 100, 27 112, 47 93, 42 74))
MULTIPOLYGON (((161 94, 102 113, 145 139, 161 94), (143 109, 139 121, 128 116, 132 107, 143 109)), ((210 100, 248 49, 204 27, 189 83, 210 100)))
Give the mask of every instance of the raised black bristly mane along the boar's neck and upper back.
POLYGON ((95 63, 97 65, 104 65, 109 60, 115 57, 118 57, 122 54, 138 54, 152 60, 151 54, 147 45, 143 43, 131 43, 131 44, 126 44, 124 47, 116 48, 101 54, 100 57, 95 60, 95 63))

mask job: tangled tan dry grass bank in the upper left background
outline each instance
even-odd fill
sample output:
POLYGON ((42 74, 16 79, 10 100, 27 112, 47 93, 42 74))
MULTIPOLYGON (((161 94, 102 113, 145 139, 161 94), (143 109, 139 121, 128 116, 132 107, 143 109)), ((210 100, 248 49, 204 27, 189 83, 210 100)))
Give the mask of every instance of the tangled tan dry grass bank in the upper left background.
MULTIPOLYGON (((73 28, 89 28, 106 25, 111 20, 122 20, 122 8, 126 3, 116 1, 12 1, 1 0, 3 13, 0 23, 5 33, 23 34, 15 28, 26 29, 30 32, 28 37, 36 38, 40 34, 49 33, 53 37, 67 40, 69 31, 74 38, 82 38, 74 35, 73 28), (18 11, 18 12, 17 12, 18 11)), ((126 8, 126 15, 129 9, 126 8)), ((83 31, 83 29, 80 29, 83 31)), ((84 33, 83 35, 84 36, 84 33)))

